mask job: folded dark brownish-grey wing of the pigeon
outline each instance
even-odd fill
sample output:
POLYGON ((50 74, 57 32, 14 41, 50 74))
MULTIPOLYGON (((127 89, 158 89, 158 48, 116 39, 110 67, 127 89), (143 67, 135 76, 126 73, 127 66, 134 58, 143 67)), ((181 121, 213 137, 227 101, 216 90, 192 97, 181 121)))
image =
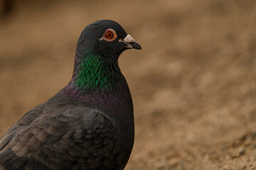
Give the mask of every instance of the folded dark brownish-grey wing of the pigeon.
POLYGON ((115 169, 115 128, 92 108, 35 108, 0 140, 0 169, 115 169))

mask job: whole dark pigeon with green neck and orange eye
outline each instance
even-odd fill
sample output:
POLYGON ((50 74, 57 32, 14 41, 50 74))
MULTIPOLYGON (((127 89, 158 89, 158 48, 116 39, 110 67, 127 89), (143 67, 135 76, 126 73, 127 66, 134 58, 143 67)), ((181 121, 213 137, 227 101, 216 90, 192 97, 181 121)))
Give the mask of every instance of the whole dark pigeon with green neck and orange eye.
POLYGON ((70 82, 1 137, 0 169, 124 169, 134 144, 132 96, 118 65, 127 49, 142 47, 119 23, 85 27, 70 82))

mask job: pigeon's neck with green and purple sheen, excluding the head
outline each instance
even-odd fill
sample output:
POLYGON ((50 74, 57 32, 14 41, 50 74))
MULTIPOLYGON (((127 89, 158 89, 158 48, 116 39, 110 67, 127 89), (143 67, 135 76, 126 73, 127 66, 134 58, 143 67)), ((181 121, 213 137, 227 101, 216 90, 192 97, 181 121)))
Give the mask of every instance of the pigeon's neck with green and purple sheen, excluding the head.
POLYGON ((117 57, 100 56, 90 51, 83 55, 77 52, 73 77, 64 90, 70 100, 89 106, 117 108, 127 101, 132 104, 117 57))

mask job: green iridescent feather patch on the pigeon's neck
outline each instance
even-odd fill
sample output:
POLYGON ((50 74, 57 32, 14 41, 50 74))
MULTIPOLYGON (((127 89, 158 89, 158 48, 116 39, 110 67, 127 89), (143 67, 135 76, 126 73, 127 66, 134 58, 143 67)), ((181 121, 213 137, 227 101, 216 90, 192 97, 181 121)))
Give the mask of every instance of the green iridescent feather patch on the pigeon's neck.
POLYGON ((78 90, 109 91, 117 85, 121 72, 113 58, 86 51, 80 60, 74 81, 78 90))

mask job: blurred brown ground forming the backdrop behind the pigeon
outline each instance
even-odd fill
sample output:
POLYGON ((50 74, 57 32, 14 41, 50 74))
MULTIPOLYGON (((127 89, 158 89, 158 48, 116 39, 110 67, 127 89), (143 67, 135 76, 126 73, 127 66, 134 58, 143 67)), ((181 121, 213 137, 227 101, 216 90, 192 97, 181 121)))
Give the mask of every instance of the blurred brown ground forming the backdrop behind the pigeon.
POLYGON ((256 169, 256 1, 1 0, 0 135, 65 86, 81 31, 112 19, 141 45, 126 170, 256 169))

